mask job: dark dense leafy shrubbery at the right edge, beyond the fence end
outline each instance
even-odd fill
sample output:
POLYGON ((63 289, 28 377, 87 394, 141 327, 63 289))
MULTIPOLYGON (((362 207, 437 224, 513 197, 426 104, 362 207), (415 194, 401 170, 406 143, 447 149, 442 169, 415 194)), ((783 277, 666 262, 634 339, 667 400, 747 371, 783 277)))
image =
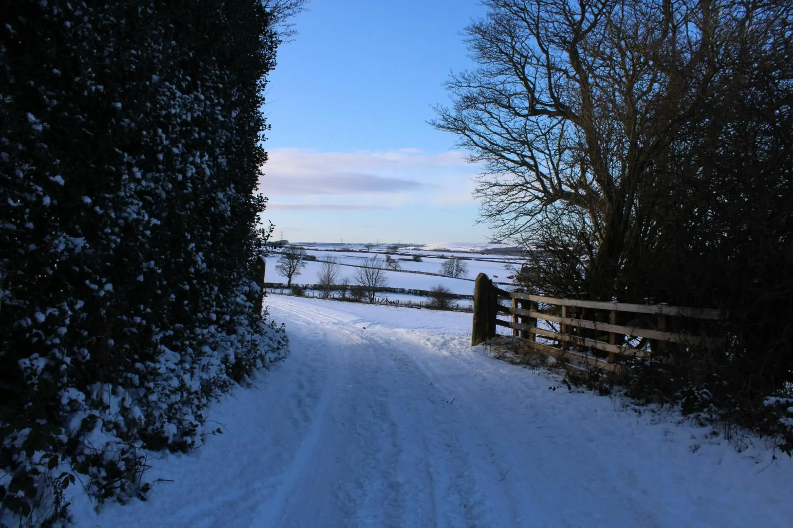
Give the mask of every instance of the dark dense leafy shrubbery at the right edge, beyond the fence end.
POLYGON ((624 280, 648 298, 729 313, 715 329, 726 347, 680 354, 682 393, 706 386, 707 405, 783 435, 791 453, 793 422, 769 420, 766 397, 793 395, 793 6, 761 6, 751 21, 722 22, 718 73, 691 80, 708 88, 656 161, 643 193, 649 243, 624 280))

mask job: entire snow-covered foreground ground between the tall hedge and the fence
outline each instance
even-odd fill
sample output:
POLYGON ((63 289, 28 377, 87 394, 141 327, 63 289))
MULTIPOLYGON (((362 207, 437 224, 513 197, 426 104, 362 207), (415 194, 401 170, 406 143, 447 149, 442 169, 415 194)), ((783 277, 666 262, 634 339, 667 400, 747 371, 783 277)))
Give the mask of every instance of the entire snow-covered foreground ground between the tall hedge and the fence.
POLYGON ((787 455, 552 391, 470 347, 469 313, 266 304, 289 358, 211 409, 223 435, 151 459, 147 502, 76 496, 76 526, 793 526, 787 455))

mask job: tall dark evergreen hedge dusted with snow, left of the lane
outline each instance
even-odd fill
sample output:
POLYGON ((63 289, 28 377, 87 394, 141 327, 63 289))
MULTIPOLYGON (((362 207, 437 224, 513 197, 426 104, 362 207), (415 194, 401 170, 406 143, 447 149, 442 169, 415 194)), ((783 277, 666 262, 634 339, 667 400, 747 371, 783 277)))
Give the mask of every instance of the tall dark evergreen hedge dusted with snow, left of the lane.
POLYGON ((190 449, 285 353, 251 274, 278 36, 255 0, 0 18, 0 501, 24 518, 75 473, 146 492, 140 451, 190 449))

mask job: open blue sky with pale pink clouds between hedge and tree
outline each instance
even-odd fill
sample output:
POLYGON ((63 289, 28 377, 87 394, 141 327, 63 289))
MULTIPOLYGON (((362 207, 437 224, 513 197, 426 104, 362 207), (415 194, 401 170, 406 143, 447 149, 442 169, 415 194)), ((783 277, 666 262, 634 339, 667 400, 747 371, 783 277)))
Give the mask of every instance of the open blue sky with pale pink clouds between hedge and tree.
POLYGON ((477 168, 426 123, 443 83, 473 66, 478 0, 315 0, 278 50, 260 190, 291 241, 486 241, 477 168))

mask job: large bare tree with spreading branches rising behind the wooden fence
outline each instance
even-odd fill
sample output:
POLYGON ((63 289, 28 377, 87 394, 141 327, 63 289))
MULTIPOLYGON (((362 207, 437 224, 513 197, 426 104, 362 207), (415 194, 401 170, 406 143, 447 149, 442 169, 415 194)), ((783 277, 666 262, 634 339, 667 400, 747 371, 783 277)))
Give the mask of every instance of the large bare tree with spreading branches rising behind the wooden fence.
POLYGON ((478 67, 451 78, 454 108, 432 124, 484 167, 476 196, 494 236, 537 245, 549 216, 574 212, 565 222, 600 284, 588 294, 614 294, 651 222, 653 160, 718 68, 711 31, 726 2, 484 3, 467 28, 478 67))

